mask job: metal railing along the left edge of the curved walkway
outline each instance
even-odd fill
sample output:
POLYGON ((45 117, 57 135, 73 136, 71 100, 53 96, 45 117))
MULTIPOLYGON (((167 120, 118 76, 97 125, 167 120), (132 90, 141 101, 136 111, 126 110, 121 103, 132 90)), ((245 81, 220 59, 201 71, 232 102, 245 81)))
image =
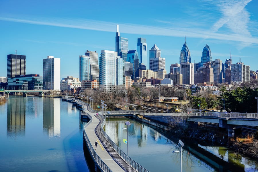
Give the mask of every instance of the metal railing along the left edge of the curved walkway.
POLYGON ((83 130, 83 137, 85 138, 85 142, 88 145, 89 151, 91 152, 91 156, 97 163, 97 166, 99 167, 99 169, 101 169, 103 172, 112 172, 110 170, 110 168, 108 168, 107 165, 97 155, 96 151, 94 150, 93 146, 91 145, 91 142, 85 132, 85 129, 87 128, 87 126, 89 126, 89 124, 91 124, 91 122, 92 122, 92 117, 90 115, 88 115, 88 116, 89 116, 90 121, 84 126, 84 130, 83 130))

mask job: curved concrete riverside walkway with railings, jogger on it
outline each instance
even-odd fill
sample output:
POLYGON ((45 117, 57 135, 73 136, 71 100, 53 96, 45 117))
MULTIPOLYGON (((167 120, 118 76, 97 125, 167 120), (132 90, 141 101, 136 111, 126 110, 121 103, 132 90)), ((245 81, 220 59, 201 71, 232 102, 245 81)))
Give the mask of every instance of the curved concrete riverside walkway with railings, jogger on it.
MULTIPOLYGON (((95 163, 101 169, 101 171, 128 171, 128 172, 148 172, 138 163, 128 157, 116 144, 107 136, 102 129, 102 118, 103 116, 98 115, 92 110, 87 103, 84 103, 76 99, 65 99, 62 100, 77 103, 83 107, 83 113, 86 113, 90 117, 90 121, 85 125, 83 131, 83 137, 88 144, 89 152, 92 155, 95 163), (87 108, 86 108, 87 106, 87 108), (97 148, 95 149, 95 142, 98 142, 97 148)), ((104 119, 104 118, 103 118, 104 119)))

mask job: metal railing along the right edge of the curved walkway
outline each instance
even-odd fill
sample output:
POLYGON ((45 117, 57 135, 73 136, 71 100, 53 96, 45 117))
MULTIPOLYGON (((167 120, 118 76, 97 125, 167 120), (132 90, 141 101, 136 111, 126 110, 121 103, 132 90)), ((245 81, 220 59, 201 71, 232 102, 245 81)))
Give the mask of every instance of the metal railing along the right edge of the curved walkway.
POLYGON ((140 164, 136 163, 134 160, 132 160, 130 157, 128 157, 112 140, 111 138, 107 135, 107 133, 101 128, 101 133, 103 136, 107 139, 107 141, 110 143, 112 148, 120 155, 124 161, 126 161, 129 165, 131 165, 135 170, 139 172, 148 172, 144 167, 142 167, 140 164))

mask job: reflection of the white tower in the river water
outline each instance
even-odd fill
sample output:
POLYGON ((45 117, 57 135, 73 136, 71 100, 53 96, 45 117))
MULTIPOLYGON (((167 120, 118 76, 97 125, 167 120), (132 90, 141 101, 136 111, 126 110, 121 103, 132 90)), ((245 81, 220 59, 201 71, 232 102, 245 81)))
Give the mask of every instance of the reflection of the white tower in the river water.
POLYGON ((43 98, 43 131, 48 137, 60 137, 60 100, 43 98))

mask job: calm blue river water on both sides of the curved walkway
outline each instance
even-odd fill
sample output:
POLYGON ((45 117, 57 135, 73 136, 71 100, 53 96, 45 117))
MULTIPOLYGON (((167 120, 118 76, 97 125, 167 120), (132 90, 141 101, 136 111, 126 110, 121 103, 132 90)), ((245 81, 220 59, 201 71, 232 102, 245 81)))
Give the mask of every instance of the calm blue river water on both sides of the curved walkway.
MULTIPOLYGON (((180 171, 178 139, 128 118, 110 120, 110 137, 149 171, 180 171)), ((10 96, 0 105, 0 171, 90 171, 79 110, 58 98, 10 96)), ((105 129, 108 128, 108 123, 105 129)), ((189 140, 188 140, 189 142, 189 140)), ((257 161, 226 147, 185 143, 183 171, 257 171, 257 161)))

